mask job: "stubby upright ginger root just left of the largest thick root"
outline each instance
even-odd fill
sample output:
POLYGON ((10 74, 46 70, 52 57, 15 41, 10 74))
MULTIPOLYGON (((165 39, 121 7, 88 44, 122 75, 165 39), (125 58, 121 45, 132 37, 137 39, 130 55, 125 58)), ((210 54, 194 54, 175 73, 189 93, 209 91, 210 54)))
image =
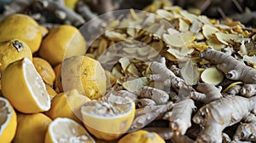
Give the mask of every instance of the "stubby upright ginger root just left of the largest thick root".
POLYGON ((170 121, 170 128, 174 133, 185 134, 191 127, 191 116, 195 109, 194 100, 182 100, 174 104, 172 111, 167 112, 164 119, 170 121))

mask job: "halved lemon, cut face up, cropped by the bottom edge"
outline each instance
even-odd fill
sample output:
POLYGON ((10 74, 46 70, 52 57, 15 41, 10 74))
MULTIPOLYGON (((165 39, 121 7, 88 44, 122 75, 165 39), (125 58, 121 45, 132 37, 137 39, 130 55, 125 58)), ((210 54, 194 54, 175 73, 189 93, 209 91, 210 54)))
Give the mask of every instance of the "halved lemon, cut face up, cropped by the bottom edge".
POLYGON ((67 117, 58 117, 49 124, 44 143, 86 142, 95 143, 82 125, 67 117))

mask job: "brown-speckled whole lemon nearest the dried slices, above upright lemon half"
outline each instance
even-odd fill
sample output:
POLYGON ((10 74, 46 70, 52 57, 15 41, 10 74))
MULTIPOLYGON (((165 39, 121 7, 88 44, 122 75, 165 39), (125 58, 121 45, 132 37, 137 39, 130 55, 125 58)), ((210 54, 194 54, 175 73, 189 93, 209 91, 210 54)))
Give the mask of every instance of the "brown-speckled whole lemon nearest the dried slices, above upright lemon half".
POLYGON ((106 92, 106 75, 100 62, 87 56, 73 56, 62 62, 61 83, 64 90, 77 89, 91 100, 106 92))

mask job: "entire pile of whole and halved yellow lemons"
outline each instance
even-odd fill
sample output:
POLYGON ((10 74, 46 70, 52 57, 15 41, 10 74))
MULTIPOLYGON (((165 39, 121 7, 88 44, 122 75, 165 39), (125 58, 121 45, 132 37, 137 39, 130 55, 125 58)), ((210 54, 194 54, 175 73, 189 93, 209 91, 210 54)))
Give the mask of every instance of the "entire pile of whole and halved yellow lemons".
MULTIPOLYGON (((105 98, 105 71, 84 56, 86 42, 76 27, 48 30, 13 14, 0 21, 0 31, 1 142, 117 140, 131 127, 134 103, 105 98)), ((131 142, 133 134, 136 142, 165 142, 146 131, 120 142, 131 142)))

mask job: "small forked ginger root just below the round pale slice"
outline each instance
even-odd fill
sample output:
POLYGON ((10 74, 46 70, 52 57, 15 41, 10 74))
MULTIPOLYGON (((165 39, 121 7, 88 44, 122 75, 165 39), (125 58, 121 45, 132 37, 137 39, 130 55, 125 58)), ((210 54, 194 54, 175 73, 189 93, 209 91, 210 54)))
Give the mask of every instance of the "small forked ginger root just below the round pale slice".
POLYGON ((222 97, 222 94, 220 93, 221 89, 216 88, 212 84, 199 83, 196 89, 202 94, 196 91, 192 91, 190 98, 193 100, 198 100, 203 103, 210 103, 213 100, 218 100, 222 97))

